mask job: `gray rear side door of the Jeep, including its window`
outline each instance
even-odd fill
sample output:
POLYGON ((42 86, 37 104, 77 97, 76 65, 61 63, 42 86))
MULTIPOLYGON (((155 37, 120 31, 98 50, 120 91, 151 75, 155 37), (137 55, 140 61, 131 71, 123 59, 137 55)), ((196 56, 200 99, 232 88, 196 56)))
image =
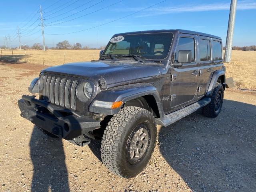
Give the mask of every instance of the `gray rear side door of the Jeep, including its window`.
POLYGON ((213 73, 211 38, 198 36, 198 99, 206 94, 213 73))

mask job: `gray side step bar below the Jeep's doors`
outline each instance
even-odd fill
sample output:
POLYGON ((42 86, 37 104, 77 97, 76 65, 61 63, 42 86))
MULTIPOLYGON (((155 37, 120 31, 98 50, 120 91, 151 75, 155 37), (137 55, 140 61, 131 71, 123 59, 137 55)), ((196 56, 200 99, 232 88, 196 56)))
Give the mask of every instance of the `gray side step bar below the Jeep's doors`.
POLYGON ((164 118, 162 118, 162 119, 156 119, 156 124, 166 127, 166 126, 180 120, 181 118, 188 116, 189 114, 195 112, 196 110, 202 108, 203 106, 206 106, 210 102, 211 102, 211 98, 209 98, 209 97, 203 98, 202 100, 200 100, 194 104, 186 106, 186 107, 179 109, 177 111, 174 111, 172 113, 166 114, 164 116, 164 118))

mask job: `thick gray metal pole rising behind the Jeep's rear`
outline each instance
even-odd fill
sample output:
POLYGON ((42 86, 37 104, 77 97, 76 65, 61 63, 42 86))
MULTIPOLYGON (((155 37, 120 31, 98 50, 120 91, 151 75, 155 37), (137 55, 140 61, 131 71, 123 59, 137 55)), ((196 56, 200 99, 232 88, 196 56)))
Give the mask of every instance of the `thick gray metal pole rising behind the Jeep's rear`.
POLYGON ((224 62, 230 62, 231 60, 234 25, 235 25, 235 19, 236 19, 236 4, 237 4, 237 0, 231 0, 224 62))

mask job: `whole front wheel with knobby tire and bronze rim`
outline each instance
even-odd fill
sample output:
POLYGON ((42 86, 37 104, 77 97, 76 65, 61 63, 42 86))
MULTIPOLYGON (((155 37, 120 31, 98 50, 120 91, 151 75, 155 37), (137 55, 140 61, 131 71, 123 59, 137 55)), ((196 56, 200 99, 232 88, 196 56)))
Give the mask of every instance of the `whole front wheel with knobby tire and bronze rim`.
POLYGON ((118 176, 134 177, 148 164, 155 142, 153 114, 139 107, 122 108, 111 118, 104 131, 102 162, 118 176))

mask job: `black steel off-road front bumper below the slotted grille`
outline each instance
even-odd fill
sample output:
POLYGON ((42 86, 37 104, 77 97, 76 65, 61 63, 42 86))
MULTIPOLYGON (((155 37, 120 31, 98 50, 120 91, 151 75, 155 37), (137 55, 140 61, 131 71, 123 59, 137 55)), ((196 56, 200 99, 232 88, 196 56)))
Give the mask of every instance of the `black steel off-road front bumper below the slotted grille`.
POLYGON ((55 107, 44 100, 36 99, 35 96, 23 95, 22 99, 18 100, 18 106, 20 116, 66 140, 100 128, 100 121, 55 107))

